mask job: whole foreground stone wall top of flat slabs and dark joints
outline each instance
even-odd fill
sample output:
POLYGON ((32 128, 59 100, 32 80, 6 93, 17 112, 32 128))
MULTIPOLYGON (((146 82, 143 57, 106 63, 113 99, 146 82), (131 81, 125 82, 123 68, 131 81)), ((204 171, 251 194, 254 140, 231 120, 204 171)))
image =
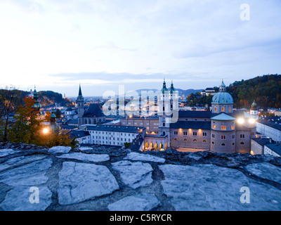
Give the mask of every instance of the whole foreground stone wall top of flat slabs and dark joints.
POLYGON ((281 210, 281 158, 0 143, 1 210, 281 210))

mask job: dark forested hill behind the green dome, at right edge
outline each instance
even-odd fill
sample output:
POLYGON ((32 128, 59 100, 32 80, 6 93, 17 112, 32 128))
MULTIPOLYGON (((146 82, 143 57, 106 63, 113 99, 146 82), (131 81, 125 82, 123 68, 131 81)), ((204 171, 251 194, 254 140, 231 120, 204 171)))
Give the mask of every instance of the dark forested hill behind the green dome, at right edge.
POLYGON ((237 108, 250 108, 254 100, 259 108, 281 108, 281 75, 242 79, 226 89, 233 96, 237 108))

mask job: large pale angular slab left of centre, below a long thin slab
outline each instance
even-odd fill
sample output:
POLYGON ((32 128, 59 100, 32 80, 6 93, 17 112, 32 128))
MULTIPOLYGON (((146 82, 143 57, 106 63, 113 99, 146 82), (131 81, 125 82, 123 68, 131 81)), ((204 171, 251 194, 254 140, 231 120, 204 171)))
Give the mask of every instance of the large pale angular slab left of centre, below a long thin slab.
POLYGON ((63 162, 63 169, 58 176, 60 205, 79 203, 119 189, 115 177, 102 165, 63 162))

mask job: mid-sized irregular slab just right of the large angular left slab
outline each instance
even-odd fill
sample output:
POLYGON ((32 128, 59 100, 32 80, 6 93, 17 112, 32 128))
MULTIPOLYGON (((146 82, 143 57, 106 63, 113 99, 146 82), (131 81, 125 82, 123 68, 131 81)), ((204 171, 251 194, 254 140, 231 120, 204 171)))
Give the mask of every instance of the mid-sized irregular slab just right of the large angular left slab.
POLYGON ((148 163, 120 161, 112 163, 112 169, 119 172, 124 184, 139 188, 152 184, 152 167, 148 163))

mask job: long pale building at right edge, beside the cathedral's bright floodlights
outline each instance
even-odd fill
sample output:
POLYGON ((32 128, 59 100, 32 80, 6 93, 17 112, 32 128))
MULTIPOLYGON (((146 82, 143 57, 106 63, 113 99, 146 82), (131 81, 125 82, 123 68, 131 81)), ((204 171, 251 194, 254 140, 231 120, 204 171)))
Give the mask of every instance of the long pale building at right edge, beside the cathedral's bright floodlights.
POLYGON ((257 120, 256 131, 273 139, 273 141, 281 141, 281 122, 257 120))

